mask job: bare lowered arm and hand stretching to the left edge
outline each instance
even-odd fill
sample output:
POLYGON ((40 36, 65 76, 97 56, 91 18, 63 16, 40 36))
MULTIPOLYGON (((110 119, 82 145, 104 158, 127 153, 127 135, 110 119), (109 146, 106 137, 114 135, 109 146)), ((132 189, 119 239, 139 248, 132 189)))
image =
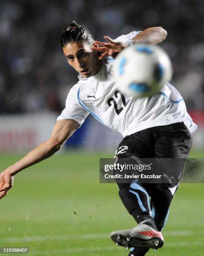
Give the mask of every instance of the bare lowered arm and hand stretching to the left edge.
POLYGON ((74 120, 58 120, 51 137, 30 151, 26 156, 0 173, 0 199, 12 187, 13 176, 21 170, 36 164, 57 152, 67 139, 77 130, 79 124, 74 120))

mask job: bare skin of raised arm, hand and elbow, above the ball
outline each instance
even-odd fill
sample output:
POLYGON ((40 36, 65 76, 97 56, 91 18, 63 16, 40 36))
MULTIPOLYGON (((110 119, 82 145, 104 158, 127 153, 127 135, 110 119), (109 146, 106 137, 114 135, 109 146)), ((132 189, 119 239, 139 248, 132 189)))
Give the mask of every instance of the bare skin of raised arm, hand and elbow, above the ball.
MULTIPOLYGON (((162 27, 152 27, 147 28, 144 31, 140 32, 132 38, 135 43, 140 44, 158 44, 162 42, 167 36, 167 31, 162 27)), ((122 51, 129 44, 124 42, 116 42, 109 36, 104 36, 104 39, 108 41, 108 43, 94 41, 94 44, 97 45, 95 47, 90 47, 92 51, 99 51, 101 55, 99 59, 103 59, 105 56, 117 56, 117 54, 122 51), (98 47, 100 46, 100 47, 98 47)))

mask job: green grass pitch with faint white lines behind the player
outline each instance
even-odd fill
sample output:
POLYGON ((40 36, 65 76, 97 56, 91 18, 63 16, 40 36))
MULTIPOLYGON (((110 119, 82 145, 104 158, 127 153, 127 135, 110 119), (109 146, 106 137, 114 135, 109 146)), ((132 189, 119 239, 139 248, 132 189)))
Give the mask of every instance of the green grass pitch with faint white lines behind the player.
MULTIPOLYGON (((29 247, 28 255, 36 256, 126 256, 109 233, 135 222, 117 185, 99 183, 100 157, 112 155, 67 151, 17 174, 0 201, 0 247, 29 247)), ((0 156, 1 169, 19 158, 0 156)), ((203 197, 204 184, 180 185, 163 230, 164 246, 147 255, 204 255, 203 197)))

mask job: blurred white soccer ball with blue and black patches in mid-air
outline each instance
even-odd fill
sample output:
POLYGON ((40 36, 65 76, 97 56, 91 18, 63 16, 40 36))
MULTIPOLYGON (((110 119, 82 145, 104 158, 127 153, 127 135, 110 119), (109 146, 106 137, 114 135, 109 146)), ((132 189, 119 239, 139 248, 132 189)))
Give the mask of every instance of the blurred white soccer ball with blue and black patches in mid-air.
POLYGON ((115 64, 119 89, 133 98, 157 94, 172 78, 172 64, 159 46, 133 44, 122 50, 115 64))

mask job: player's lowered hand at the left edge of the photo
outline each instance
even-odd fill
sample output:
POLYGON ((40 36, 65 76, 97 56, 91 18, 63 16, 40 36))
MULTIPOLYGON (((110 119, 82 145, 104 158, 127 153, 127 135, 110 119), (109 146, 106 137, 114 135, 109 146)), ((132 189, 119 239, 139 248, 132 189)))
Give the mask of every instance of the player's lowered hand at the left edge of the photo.
POLYGON ((7 170, 0 173, 0 199, 5 197, 8 190, 13 186, 13 178, 7 170))

